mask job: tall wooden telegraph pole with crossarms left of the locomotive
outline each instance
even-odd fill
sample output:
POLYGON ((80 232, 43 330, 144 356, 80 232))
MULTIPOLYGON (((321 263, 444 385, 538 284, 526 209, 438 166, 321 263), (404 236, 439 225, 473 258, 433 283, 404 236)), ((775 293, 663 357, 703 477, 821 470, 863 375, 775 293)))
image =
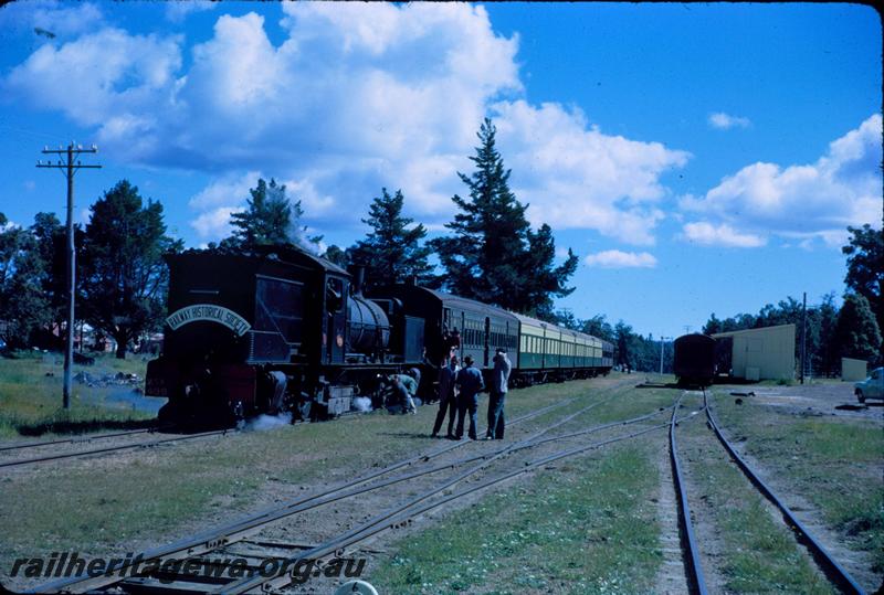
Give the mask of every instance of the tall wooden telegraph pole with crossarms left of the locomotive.
POLYGON ((63 403, 64 408, 71 407, 71 364, 74 359, 74 288, 76 287, 76 252, 74 249, 74 173, 78 169, 98 169, 102 166, 84 166, 80 161, 80 155, 84 152, 98 152, 98 147, 93 145, 88 149, 84 149, 83 145, 71 142, 67 148, 59 146, 57 149, 43 148, 43 155, 57 155, 60 159, 56 162, 38 161, 38 168, 52 168, 61 170, 67 178, 67 338, 66 347, 64 350, 64 389, 63 389, 63 403), (61 157, 65 156, 66 161, 62 161, 61 157))

